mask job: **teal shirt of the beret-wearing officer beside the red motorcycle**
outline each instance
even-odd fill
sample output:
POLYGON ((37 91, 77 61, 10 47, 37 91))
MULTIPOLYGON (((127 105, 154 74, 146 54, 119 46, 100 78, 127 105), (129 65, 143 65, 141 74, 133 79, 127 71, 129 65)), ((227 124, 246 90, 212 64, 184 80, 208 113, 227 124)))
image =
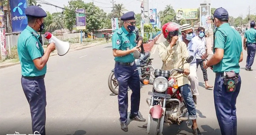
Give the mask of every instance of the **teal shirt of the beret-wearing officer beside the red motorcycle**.
MULTIPOLYGON (((136 46, 136 33, 128 32, 124 26, 121 29, 118 29, 112 36, 112 49, 117 50, 131 50, 136 46)), ((130 53, 125 56, 115 57, 116 62, 134 62, 134 54, 130 53)))

